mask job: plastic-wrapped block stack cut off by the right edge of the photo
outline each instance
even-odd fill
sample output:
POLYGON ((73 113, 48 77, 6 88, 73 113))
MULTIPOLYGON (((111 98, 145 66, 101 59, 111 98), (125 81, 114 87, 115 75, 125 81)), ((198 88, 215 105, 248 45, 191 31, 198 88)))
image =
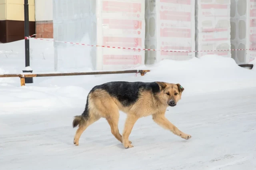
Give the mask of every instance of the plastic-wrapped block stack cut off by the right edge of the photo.
MULTIPOLYGON (((256 49, 256 0, 231 1, 231 49, 256 49)), ((256 50, 232 51, 238 64, 256 58, 256 50)))

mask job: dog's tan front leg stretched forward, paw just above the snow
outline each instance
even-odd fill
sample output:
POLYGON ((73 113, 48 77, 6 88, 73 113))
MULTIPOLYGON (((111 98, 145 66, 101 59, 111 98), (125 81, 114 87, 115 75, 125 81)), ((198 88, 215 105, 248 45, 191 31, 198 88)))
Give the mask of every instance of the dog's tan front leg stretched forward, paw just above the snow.
POLYGON ((164 116, 164 113, 156 113, 152 115, 152 119, 154 120, 154 122, 156 122, 158 125, 160 125, 164 129, 170 130, 172 133, 182 137, 183 139, 191 138, 190 135, 183 133, 176 126, 174 126, 170 121, 168 121, 168 119, 164 116))

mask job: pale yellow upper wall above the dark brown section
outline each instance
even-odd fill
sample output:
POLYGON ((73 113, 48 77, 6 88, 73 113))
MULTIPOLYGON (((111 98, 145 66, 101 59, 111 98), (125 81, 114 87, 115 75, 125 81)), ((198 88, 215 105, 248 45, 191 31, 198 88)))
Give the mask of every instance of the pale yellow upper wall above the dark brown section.
MULTIPOLYGON (((35 21, 35 1, 28 5, 29 21, 35 21)), ((24 0, 0 0, 0 20, 24 21, 24 0)))

